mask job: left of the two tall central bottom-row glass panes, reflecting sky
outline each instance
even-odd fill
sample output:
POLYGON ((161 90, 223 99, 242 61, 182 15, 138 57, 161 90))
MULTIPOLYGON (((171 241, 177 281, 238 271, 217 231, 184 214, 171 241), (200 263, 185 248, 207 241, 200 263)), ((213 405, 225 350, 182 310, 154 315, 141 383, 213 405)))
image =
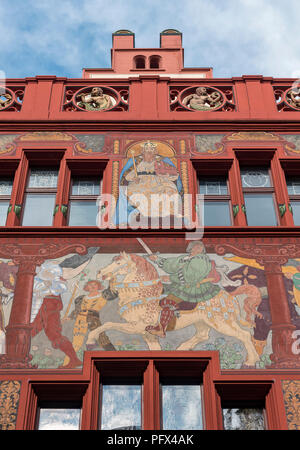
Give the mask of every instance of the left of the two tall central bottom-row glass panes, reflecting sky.
POLYGON ((102 386, 101 430, 141 430, 141 385, 102 386))

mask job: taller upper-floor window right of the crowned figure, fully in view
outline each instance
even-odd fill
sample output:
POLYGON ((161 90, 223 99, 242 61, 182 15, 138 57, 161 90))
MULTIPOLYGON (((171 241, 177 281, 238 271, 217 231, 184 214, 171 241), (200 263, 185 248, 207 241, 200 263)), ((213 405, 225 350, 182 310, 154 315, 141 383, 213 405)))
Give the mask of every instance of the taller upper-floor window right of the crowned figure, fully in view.
POLYGON ((275 226, 274 188, 267 167, 242 167, 242 189, 249 226, 275 226))

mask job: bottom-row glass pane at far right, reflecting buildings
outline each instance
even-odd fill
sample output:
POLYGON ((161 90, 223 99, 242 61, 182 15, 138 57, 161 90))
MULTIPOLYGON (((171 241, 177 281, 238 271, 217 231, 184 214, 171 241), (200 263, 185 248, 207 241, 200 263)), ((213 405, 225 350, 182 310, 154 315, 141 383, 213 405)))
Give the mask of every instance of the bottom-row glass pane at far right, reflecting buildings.
POLYGON ((229 408, 223 409, 225 430, 264 430, 262 408, 229 408))

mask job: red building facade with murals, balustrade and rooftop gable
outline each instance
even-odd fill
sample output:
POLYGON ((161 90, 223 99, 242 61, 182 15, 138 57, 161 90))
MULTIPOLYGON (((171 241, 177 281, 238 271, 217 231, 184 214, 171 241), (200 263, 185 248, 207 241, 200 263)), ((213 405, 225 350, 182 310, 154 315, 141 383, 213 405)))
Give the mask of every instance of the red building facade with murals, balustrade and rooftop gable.
POLYGON ((98 429, 115 377, 159 429, 179 374, 205 429, 235 407, 300 428, 297 80, 184 68, 181 38, 120 30, 111 69, 2 88, 2 429, 50 401, 98 429))

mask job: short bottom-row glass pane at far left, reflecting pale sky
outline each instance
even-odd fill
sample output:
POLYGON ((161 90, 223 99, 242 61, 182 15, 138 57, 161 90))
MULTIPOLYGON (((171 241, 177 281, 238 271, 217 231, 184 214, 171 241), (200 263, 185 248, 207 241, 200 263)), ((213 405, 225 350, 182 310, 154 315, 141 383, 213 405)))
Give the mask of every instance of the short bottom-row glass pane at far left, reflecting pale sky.
POLYGON ((81 409, 40 408, 38 430, 79 430, 81 409))

